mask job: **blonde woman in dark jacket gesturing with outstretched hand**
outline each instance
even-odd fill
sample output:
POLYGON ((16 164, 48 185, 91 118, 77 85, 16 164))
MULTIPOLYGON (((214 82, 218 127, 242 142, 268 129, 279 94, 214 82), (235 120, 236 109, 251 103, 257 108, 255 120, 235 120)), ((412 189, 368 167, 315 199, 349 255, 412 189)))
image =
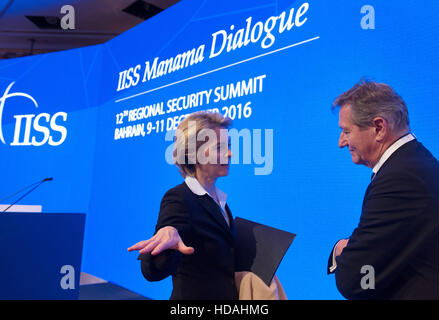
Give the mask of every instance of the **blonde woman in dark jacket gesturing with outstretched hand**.
POLYGON ((163 197, 155 235, 128 249, 139 250, 147 280, 172 275, 171 299, 238 299, 233 218, 226 194, 215 186, 229 172, 230 124, 210 112, 180 123, 174 161, 185 181, 163 197))

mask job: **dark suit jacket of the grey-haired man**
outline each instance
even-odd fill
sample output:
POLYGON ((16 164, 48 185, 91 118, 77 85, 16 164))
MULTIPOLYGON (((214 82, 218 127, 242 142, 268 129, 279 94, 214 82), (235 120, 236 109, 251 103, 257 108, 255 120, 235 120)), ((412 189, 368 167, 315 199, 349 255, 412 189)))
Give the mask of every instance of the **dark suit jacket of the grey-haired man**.
POLYGON ((404 144, 383 164, 336 262, 345 298, 439 299, 439 163, 421 143, 404 144), (371 275, 364 265, 374 268, 375 289, 361 287, 371 275))

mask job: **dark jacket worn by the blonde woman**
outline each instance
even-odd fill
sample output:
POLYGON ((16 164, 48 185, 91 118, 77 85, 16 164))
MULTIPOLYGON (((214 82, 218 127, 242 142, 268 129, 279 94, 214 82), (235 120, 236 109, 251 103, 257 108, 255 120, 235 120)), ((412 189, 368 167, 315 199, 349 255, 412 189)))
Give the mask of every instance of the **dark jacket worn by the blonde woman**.
POLYGON ((157 256, 141 255, 141 269, 149 281, 172 275, 171 300, 236 300, 235 228, 226 205, 230 227, 219 206, 207 194, 194 194, 186 183, 169 190, 162 199, 156 232, 165 226, 178 230, 192 255, 165 250, 157 256))

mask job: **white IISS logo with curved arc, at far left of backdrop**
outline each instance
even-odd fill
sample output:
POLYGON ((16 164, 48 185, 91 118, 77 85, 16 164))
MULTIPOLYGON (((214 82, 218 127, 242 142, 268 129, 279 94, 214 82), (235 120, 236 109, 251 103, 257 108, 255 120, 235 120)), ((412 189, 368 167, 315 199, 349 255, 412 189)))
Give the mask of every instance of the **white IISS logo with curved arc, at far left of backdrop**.
MULTIPOLYGON (((12 86, 15 82, 12 82, 5 90, 5 93, 0 98, 0 141, 3 144, 7 144, 3 136, 2 120, 3 120, 3 108, 6 100, 12 97, 22 97, 31 100, 35 108, 38 108, 37 101, 29 94, 23 92, 10 93, 12 86)), ((61 145, 67 137, 67 129, 57 124, 57 119, 61 118, 62 121, 67 120, 67 113, 57 112, 54 115, 48 113, 40 114, 21 114, 14 115, 15 118, 15 130, 14 138, 10 143, 11 146, 35 146, 40 147, 49 143, 51 146, 61 145), (61 137, 55 140, 52 136, 53 132, 58 132, 61 137), (36 136, 37 134, 38 136, 36 136), (40 138, 40 140, 38 140, 40 138)), ((58 136, 58 134, 57 134, 58 136)))

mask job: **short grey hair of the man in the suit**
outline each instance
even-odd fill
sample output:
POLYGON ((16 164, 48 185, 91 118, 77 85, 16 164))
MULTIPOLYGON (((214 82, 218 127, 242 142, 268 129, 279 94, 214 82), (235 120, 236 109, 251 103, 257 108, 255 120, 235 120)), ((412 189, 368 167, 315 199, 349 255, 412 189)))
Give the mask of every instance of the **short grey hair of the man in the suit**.
POLYGON ((338 96, 332 109, 349 105, 352 121, 360 128, 373 126, 373 119, 382 117, 392 132, 409 129, 409 116, 404 100, 387 84, 362 79, 338 96))

